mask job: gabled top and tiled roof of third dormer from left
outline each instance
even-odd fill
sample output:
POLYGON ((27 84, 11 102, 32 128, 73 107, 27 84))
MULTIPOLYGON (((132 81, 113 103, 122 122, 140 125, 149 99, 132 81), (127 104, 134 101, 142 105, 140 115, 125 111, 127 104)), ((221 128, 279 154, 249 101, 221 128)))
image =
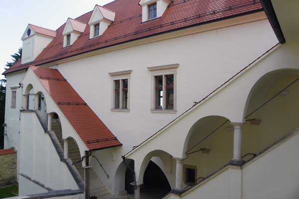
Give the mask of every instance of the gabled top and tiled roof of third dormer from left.
POLYGON ((115 12, 100 5, 96 5, 88 21, 88 24, 92 24, 95 21, 100 21, 103 18, 108 19, 112 22, 115 20, 115 12))

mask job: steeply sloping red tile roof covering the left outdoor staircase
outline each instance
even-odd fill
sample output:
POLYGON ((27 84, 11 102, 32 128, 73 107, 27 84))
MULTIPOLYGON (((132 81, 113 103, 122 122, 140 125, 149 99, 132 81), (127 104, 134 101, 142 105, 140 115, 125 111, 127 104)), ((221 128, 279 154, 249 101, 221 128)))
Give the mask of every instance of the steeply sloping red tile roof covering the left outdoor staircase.
POLYGON ((57 69, 30 68, 89 150, 122 145, 57 69))

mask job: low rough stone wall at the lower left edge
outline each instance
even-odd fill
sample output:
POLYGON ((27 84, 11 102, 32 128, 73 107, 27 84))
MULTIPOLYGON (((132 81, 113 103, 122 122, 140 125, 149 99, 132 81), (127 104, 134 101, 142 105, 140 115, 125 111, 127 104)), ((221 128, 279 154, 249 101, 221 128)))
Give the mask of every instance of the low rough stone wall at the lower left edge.
POLYGON ((16 153, 13 149, 0 150, 0 187, 16 183, 16 153))

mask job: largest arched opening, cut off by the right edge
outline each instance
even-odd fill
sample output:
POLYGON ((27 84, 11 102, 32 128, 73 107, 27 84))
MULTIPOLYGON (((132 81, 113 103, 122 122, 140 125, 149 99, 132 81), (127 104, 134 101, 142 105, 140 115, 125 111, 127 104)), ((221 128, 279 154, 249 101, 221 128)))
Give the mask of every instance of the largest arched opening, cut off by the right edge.
POLYGON ((243 155, 260 153, 299 127, 298 78, 299 70, 282 69, 255 83, 244 109, 243 155))

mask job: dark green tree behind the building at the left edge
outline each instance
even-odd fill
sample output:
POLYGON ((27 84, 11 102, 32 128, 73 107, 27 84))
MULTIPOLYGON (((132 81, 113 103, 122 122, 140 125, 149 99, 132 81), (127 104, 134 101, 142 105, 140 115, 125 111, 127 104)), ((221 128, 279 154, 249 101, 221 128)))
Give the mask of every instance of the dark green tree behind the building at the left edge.
MULTIPOLYGON (((22 56, 22 48, 19 48, 17 53, 10 55, 12 58, 12 62, 7 62, 6 67, 7 70, 10 68, 16 61, 18 61, 22 56)), ((2 124, 4 124, 4 115, 5 115, 5 94, 6 94, 6 79, 0 80, 0 149, 4 146, 4 128, 2 124)))

